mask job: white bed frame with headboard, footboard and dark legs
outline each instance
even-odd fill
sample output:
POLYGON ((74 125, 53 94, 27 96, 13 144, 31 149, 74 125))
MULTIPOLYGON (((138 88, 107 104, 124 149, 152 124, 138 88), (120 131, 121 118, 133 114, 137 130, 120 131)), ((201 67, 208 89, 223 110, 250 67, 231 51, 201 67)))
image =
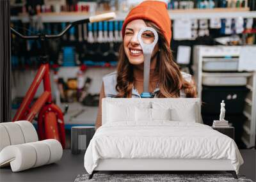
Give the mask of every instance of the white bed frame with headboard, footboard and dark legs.
MULTIPOLYGON (((122 103, 124 105, 149 104, 150 102, 168 102, 175 106, 180 102, 195 103, 196 105, 196 121, 202 123, 201 103, 199 98, 103 98, 102 99, 102 125, 106 123, 109 103, 122 103)), ((90 174, 99 171, 148 171, 152 173, 168 171, 227 171, 237 179, 236 171, 230 160, 212 160, 212 159, 163 159, 163 158, 108 158, 99 160, 97 167, 90 174)))

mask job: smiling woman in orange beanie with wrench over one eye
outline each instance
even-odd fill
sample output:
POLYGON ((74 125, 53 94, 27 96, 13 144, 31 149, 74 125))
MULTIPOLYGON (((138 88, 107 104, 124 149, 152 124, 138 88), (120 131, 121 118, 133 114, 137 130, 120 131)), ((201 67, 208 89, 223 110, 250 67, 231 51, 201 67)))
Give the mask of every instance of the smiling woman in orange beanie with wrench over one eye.
MULTIPOLYGON (((150 93, 155 98, 196 97, 191 75, 180 72, 179 66, 173 61, 170 49, 171 21, 166 4, 161 1, 144 1, 125 18, 117 72, 103 77, 96 128, 101 126, 102 98, 140 98, 143 91, 144 57, 138 33, 143 27, 153 27, 159 36, 150 61, 150 93)), ((154 34, 145 34, 145 38, 154 38, 154 34)))

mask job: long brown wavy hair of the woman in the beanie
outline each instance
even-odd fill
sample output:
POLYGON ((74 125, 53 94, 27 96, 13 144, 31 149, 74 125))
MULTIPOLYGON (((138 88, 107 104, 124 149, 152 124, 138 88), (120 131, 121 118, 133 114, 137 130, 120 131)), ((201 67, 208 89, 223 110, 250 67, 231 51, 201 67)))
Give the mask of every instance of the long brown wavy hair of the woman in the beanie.
MULTIPOLYGON (((155 72, 159 75, 158 86, 160 91, 157 93, 158 98, 177 98, 180 96, 180 89, 184 89, 184 93, 188 98, 196 97, 195 82, 187 82, 179 70, 179 66, 173 61, 172 50, 168 42, 163 36, 162 31, 148 20, 144 20, 148 27, 153 27, 158 33, 159 52, 157 53, 157 64, 155 72)), ((117 65, 117 79, 116 91, 118 91, 117 98, 131 98, 133 87, 133 65, 124 51, 124 44, 120 45, 118 65, 117 65)))

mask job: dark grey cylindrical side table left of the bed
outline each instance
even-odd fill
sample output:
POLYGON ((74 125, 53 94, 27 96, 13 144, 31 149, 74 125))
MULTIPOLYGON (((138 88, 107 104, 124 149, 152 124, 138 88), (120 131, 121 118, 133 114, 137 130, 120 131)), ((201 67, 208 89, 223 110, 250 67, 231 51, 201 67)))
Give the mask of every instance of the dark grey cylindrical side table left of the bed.
POLYGON ((71 128, 71 153, 85 151, 95 133, 95 126, 73 126, 71 128))

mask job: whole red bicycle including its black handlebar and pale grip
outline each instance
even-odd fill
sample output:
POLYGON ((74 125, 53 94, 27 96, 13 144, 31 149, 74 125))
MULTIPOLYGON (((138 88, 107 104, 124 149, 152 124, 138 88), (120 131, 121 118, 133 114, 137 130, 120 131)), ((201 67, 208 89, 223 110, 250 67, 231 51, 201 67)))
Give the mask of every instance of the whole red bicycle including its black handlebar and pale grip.
POLYGON ((38 114, 38 135, 39 138, 42 139, 57 139, 61 142, 63 148, 65 148, 65 127, 63 120, 63 113, 61 109, 52 103, 52 95, 51 95, 51 82, 50 82, 50 68, 47 52, 45 51, 47 45, 45 44, 46 39, 60 38, 63 34, 65 34, 68 29, 72 26, 76 26, 79 24, 89 23, 89 22, 99 22, 104 20, 110 20, 115 18, 115 13, 106 13, 101 15, 96 15, 89 17, 84 20, 77 20, 75 22, 71 22, 70 24, 61 31, 59 34, 37 34, 26 36, 20 34, 15 31, 11 27, 11 31, 16 36, 20 38, 24 38, 26 40, 40 40, 42 51, 40 51, 41 56, 39 57, 41 66, 36 73, 36 77, 33 80, 31 86, 26 93, 24 100, 22 101, 19 110, 15 114, 13 121, 19 121, 22 119, 32 121, 35 118, 36 114, 38 114), (36 100, 31 108, 29 105, 31 104, 35 93, 40 85, 40 82, 44 80, 44 93, 36 100))

